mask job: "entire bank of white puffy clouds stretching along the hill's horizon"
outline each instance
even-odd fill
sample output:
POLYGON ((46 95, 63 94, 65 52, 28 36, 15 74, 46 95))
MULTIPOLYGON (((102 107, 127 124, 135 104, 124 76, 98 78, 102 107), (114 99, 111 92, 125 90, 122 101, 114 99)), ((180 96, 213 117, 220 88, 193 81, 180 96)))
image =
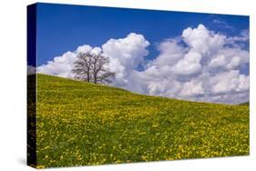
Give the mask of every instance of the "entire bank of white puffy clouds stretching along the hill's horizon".
POLYGON ((77 53, 103 52, 116 72, 114 86, 145 95, 236 104, 249 101, 249 75, 241 74, 248 70, 249 51, 239 40, 248 41, 247 32, 228 37, 204 25, 188 27, 182 35, 159 43, 159 55, 148 61, 148 40, 131 33, 101 47, 81 45, 37 67, 37 72, 72 77, 77 53), (141 64, 145 69, 138 71, 141 64))

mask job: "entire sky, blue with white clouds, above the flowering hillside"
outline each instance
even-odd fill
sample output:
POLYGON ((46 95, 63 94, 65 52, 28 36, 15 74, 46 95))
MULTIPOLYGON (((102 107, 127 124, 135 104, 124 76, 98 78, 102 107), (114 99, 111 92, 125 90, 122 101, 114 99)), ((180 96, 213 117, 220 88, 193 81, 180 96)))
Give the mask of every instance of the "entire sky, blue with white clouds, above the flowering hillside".
POLYGON ((77 53, 101 52, 116 73, 113 86, 192 101, 249 101, 248 16, 37 4, 36 29, 37 73, 74 78, 77 53))

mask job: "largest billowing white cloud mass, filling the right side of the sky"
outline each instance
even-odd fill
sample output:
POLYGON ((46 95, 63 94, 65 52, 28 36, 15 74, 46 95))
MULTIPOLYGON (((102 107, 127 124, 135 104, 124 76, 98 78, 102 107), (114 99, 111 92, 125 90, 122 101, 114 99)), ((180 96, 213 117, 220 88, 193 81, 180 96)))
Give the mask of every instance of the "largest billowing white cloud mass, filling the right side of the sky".
POLYGON ((249 52, 230 46, 230 39, 199 25, 184 29, 181 40, 165 40, 159 56, 140 72, 146 94, 229 104, 249 101, 249 75, 241 75, 242 68, 248 69, 243 66, 249 64, 249 52))

